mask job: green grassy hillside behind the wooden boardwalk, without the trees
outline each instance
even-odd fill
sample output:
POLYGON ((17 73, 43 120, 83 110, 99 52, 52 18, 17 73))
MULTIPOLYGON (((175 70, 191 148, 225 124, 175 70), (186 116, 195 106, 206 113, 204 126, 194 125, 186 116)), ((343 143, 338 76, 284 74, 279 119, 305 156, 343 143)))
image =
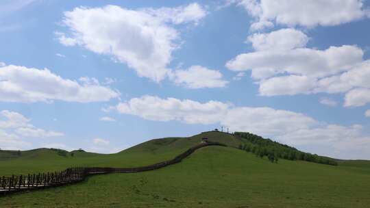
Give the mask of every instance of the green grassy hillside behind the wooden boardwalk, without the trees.
POLYGON ((163 138, 150 140, 115 154, 97 154, 73 151, 61 154, 56 149, 39 148, 32 151, 0 151, 0 176, 64 170, 72 166, 137 167, 172 159, 191 146, 199 144, 201 138, 238 146, 240 140, 221 132, 206 132, 190 138, 163 138), (12 155, 13 154, 13 155, 12 155), (14 155, 16 154, 16 155, 14 155), (10 157, 9 155, 12 155, 10 157))

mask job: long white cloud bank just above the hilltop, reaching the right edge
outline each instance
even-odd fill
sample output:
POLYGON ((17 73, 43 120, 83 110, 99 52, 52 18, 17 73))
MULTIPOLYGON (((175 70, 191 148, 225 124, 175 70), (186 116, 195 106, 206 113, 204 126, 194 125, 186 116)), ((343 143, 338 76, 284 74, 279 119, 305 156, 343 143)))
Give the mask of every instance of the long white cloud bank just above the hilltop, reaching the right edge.
POLYGON ((115 109, 121 114, 139 116, 146 120, 178 120, 187 124, 220 124, 232 131, 249 131, 273 138, 286 144, 325 146, 329 152, 321 153, 332 157, 345 157, 341 151, 345 144, 352 142, 345 151, 360 150, 367 153, 370 137, 362 131, 361 125, 334 125, 320 122, 305 114, 271 107, 236 107, 231 103, 208 101, 199 103, 174 98, 161 99, 157 96, 142 96, 119 103, 115 109))

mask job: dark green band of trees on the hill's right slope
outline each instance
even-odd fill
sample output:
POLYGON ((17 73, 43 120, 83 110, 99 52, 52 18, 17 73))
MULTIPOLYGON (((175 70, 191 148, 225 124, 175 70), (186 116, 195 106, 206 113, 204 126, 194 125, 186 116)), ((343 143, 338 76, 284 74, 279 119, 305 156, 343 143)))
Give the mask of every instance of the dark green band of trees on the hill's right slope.
POLYGON ((245 141, 244 144, 240 144, 240 149, 254 153, 259 157, 267 156, 267 158, 272 162, 277 162, 278 158, 282 158, 289 160, 299 159, 332 166, 338 165, 334 159, 304 153, 286 144, 280 144, 279 142, 274 142, 270 139, 264 139, 258 135, 254 135, 253 133, 235 132, 234 135, 245 141))

